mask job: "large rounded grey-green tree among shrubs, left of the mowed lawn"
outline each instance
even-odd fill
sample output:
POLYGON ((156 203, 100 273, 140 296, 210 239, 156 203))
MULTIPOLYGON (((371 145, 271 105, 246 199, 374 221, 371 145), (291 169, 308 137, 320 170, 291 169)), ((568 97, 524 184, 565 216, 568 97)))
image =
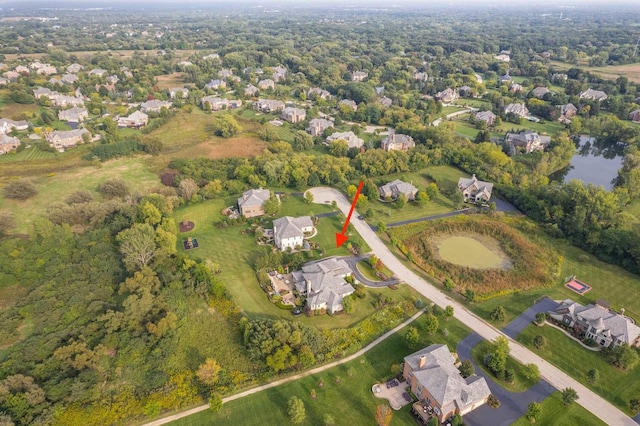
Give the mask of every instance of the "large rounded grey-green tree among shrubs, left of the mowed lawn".
POLYGON ((136 223, 116 236, 120 252, 129 270, 142 269, 158 253, 156 233, 148 223, 136 223))

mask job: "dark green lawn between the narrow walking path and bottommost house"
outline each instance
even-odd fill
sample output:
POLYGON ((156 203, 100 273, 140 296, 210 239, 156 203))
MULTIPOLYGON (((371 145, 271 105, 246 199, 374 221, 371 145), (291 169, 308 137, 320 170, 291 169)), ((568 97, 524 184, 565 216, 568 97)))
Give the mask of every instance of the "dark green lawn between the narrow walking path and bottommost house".
MULTIPOLYGON (((448 336, 445 337, 441 331, 433 336, 427 335, 423 318, 420 318, 412 324, 418 328, 421 336, 420 344, 414 348, 407 346, 404 339, 406 329, 404 329, 367 354, 347 364, 229 402, 217 414, 205 411, 172 422, 170 425, 291 424, 287 416, 287 401, 291 396, 297 396, 305 404, 307 418, 303 425, 324 424, 323 418, 327 413, 333 416, 336 424, 347 424, 347 422, 353 426, 375 424, 376 406, 386 403, 386 400, 376 398, 371 392, 371 387, 375 383, 391 378, 392 364, 402 362, 404 356, 433 343, 446 343, 450 350, 455 351, 457 342, 469 334, 469 329, 455 319, 441 320, 440 325, 441 330, 447 329, 448 336), (354 370, 353 377, 347 375, 349 368, 354 370), (335 382, 336 376, 341 378, 340 383, 335 382), (320 381, 324 382, 323 387, 318 386, 320 381), (317 392, 315 400, 310 397, 311 389, 317 392)), ((409 413, 409 406, 405 406, 400 411, 394 411, 392 426, 415 424, 415 420, 409 413)))

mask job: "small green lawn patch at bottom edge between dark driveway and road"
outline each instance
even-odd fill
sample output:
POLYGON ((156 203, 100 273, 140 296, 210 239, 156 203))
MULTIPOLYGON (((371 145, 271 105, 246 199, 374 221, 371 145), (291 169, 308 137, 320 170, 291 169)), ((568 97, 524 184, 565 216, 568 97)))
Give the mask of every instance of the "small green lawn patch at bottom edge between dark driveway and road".
MULTIPOLYGON (((541 403, 542 415, 537 424, 545 426, 605 426, 606 423, 582 408, 579 404, 573 403, 568 407, 562 403, 562 393, 554 392, 546 397, 541 403)), ((529 426, 531 423, 526 416, 520 417, 512 426, 529 426)))

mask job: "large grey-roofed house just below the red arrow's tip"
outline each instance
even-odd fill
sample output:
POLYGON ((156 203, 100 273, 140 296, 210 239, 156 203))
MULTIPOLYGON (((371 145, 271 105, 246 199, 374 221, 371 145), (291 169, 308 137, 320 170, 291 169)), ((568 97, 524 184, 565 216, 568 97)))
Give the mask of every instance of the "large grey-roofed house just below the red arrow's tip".
POLYGON ((355 292, 345 280, 353 276, 353 272, 342 259, 328 258, 305 263, 292 276, 296 289, 306 297, 307 306, 313 311, 326 309, 330 314, 341 311, 343 299, 355 292))

